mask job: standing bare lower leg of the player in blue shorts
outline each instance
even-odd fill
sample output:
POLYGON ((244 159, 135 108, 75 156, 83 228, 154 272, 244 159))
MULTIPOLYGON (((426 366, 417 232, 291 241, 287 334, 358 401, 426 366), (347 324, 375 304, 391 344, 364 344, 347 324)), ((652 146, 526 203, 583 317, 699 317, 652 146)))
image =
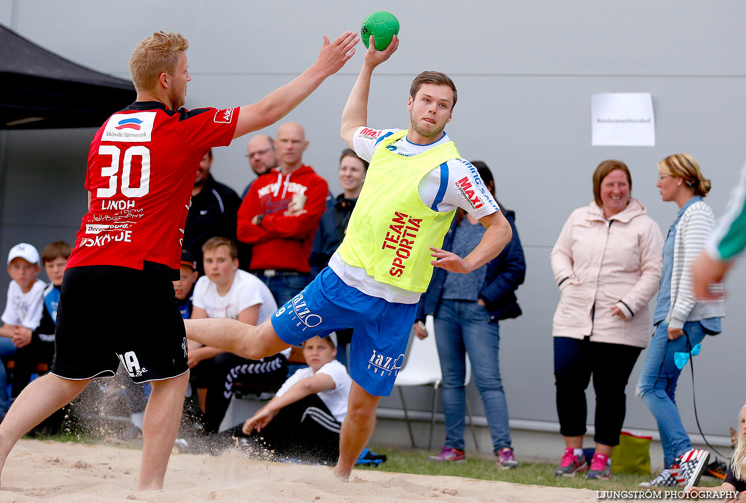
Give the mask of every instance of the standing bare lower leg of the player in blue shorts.
POLYGON ((373 396, 352 382, 347 417, 339 433, 339 461, 334 467, 334 476, 342 481, 350 478, 352 466, 373 434, 378 400, 380 396, 373 396))

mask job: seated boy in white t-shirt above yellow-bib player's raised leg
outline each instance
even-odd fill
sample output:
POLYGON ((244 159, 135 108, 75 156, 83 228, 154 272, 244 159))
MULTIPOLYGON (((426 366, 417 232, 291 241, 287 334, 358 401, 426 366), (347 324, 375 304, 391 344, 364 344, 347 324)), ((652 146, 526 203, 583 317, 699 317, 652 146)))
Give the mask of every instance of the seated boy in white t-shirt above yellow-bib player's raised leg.
MULTIPOLYGON (((192 318, 232 318, 258 325, 277 310, 269 288, 251 273, 238 268, 238 249, 228 238, 210 238, 202 246, 204 276, 192 297, 192 318)), ((249 360, 189 341, 189 368, 204 412, 204 431, 217 433, 231 402, 233 383, 252 392, 275 391, 287 376, 289 349, 249 360), (206 388, 206 389, 205 389, 206 388)))

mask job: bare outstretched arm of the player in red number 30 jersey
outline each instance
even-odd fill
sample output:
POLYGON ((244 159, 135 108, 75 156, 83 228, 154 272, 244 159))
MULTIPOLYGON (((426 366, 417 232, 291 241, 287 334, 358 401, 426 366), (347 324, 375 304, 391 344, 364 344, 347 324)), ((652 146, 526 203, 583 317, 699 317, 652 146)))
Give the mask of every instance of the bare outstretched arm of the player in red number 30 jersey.
POLYGON ((345 66, 355 54, 354 46, 357 42, 360 42, 360 37, 357 37, 356 31, 345 31, 333 42, 325 35, 316 63, 295 80, 270 92, 257 103, 241 107, 233 138, 271 126, 290 113, 301 101, 308 98, 326 77, 339 72, 339 69, 345 66))

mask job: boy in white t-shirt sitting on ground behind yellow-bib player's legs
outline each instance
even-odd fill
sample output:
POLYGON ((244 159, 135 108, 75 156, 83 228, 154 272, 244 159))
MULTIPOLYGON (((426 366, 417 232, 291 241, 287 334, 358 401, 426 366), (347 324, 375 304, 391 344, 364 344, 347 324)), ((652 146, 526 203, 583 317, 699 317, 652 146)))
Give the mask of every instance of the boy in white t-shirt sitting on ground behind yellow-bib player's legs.
MULTIPOLYGON (((339 428, 347 416, 351 378, 336 357, 334 335, 303 343, 308 367, 290 376, 275 398, 243 425, 224 431, 223 439, 239 439, 260 454, 273 452, 280 461, 336 464, 339 428)), ((235 440, 230 441, 231 444, 235 440)))

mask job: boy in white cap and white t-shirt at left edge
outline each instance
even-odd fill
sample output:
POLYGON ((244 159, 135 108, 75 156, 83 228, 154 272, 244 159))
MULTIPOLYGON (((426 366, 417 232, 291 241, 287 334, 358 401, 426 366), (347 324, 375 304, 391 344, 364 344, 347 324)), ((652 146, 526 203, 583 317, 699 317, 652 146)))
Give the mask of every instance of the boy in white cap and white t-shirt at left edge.
MULTIPOLYGON (((0 356, 16 353, 16 348, 31 342, 31 334, 39 326, 44 308, 44 288, 46 285, 37 279, 42 268, 39 265, 39 252, 31 244, 19 243, 7 255, 7 273, 10 285, 7 287, 7 300, 0 326, 0 356)), ((5 416, 10 399, 7 396, 7 374, 0 364, 0 418, 5 416)))

